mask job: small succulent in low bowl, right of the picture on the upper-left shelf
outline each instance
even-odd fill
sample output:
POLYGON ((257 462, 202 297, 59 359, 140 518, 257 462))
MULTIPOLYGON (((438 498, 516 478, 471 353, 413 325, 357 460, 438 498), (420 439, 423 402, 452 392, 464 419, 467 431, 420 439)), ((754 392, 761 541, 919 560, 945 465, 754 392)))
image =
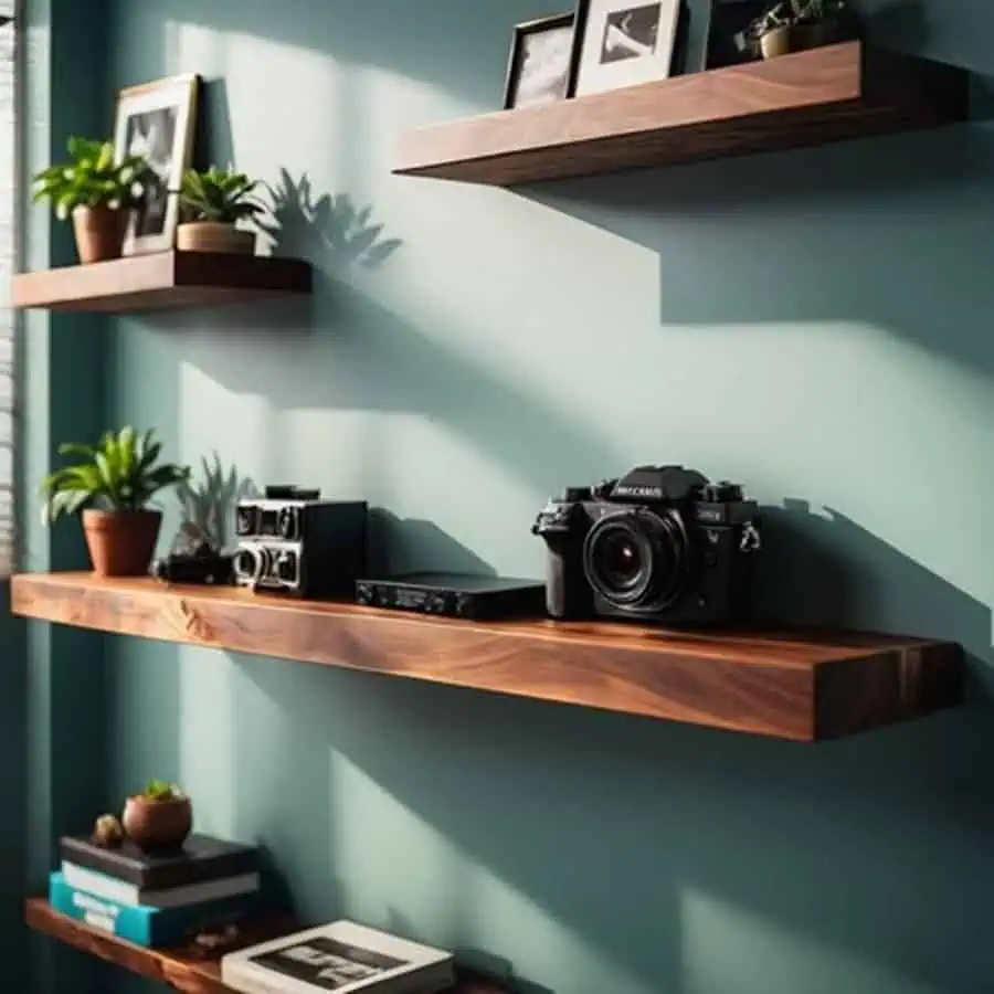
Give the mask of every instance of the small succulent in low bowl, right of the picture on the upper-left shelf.
POLYGON ((254 255, 255 232, 240 229, 237 223, 254 220, 265 210, 252 197, 258 186, 258 180, 232 169, 188 170, 180 190, 187 220, 177 230, 177 248, 254 255))

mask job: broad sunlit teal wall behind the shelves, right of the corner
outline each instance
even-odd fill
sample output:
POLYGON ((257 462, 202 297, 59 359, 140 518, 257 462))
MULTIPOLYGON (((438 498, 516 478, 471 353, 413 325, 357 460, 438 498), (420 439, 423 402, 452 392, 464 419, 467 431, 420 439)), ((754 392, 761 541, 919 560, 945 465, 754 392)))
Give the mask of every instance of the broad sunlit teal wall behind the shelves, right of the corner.
MULTIPOLYGON (((994 182, 983 124, 500 190, 390 176, 495 106, 525 0, 115 0, 112 89, 210 81, 208 158, 284 212, 297 305, 124 319, 108 421, 387 509, 398 565, 537 574, 547 495, 636 461, 770 507, 772 615, 948 636, 970 705, 801 748, 115 639, 113 787, 176 778, 305 914, 504 960, 556 994, 988 994, 994 983, 994 182), (351 245, 351 248, 349 247, 351 245)), ((907 13, 907 12, 906 12, 907 13)), ((994 14, 895 44, 992 66, 994 14)))

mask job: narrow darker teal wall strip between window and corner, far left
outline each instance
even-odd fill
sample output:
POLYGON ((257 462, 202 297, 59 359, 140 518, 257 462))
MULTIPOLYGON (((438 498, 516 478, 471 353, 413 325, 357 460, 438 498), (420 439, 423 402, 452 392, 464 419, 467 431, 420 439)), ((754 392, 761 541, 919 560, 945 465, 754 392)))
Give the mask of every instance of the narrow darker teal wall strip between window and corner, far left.
MULTIPOLYGON (((25 0, 19 24, 19 124, 25 176, 65 154, 71 134, 106 126, 106 35, 103 0, 25 0)), ((72 235, 50 212, 27 200, 20 219, 20 264, 41 269, 75 261, 72 235)), ((47 530, 38 515, 39 480, 68 438, 93 437, 106 402, 104 322, 76 315, 24 315, 20 335, 21 383, 18 498, 21 564, 28 570, 80 569, 86 562, 77 528, 47 530)), ((8 593, 4 591, 7 602, 8 593)), ((24 892, 43 893, 59 836, 75 831, 102 805, 109 702, 104 684, 103 637, 73 628, 6 621, 0 725, 8 737, 4 763, 17 763, 23 804, 4 808, 2 868, 4 972, 10 990, 83 992, 99 988, 101 964, 32 937, 14 923, 24 892), (9 664, 8 664, 9 660, 9 664), (29 952, 31 955, 29 955, 29 952)))

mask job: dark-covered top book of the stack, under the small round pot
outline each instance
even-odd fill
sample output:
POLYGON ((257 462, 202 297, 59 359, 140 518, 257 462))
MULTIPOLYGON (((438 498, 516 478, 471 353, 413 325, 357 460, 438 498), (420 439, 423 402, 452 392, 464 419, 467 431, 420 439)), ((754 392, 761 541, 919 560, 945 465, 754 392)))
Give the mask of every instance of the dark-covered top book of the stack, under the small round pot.
POLYGON ((64 836, 61 849, 65 863, 117 877, 141 890, 168 890, 260 869, 255 846, 209 835, 191 835, 179 853, 168 856, 149 856, 127 840, 109 849, 94 845, 85 836, 64 836))

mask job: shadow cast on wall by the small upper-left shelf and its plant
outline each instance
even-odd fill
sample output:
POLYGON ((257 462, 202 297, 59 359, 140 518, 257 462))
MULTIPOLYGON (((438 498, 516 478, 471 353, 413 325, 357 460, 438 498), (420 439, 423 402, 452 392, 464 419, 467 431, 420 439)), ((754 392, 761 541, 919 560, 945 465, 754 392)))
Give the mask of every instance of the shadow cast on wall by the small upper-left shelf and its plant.
MULTIPOLYGON (((377 271, 403 252, 400 239, 373 222, 371 207, 347 194, 316 194, 306 176, 284 172, 274 188, 267 235, 277 255, 315 267, 313 327, 287 326, 277 310, 225 308, 215 327, 245 329, 239 348, 218 349, 214 329, 173 319, 182 352, 235 392, 264 387, 276 408, 413 413, 437 420, 542 491, 562 486, 556 461, 590 466, 593 478, 615 459, 606 445, 524 383, 495 374, 372 297, 377 271), (362 277, 357 275, 362 271, 362 277), (276 330, 278 329, 278 330, 276 330), (529 438, 529 444, 522 444, 529 438)), ((276 305, 277 307, 281 305, 276 305)))

